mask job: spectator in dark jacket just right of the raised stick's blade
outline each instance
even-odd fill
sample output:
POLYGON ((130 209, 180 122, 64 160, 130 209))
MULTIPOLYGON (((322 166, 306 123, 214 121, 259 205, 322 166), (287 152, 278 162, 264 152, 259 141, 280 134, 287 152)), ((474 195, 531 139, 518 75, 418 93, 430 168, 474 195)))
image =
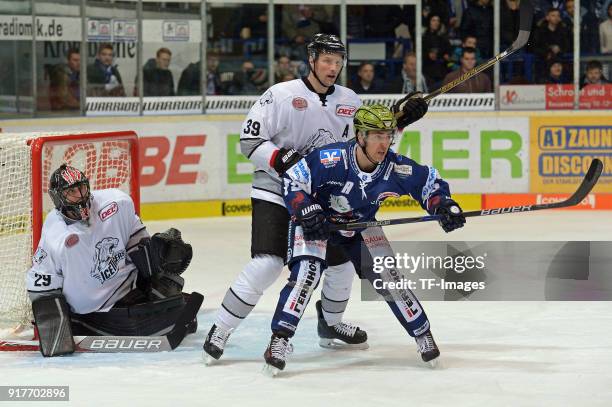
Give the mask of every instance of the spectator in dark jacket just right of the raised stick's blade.
POLYGON ((550 8, 533 34, 533 51, 548 61, 571 50, 570 34, 561 22, 561 13, 557 8, 550 8))

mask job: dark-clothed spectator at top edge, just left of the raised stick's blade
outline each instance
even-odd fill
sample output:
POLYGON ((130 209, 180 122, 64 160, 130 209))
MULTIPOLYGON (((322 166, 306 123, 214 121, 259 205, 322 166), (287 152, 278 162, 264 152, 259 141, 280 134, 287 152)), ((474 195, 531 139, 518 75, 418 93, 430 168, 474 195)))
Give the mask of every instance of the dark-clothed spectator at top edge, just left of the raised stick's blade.
POLYGON ((483 58, 493 56, 493 8, 490 0, 477 0, 461 18, 461 35, 473 35, 483 58))

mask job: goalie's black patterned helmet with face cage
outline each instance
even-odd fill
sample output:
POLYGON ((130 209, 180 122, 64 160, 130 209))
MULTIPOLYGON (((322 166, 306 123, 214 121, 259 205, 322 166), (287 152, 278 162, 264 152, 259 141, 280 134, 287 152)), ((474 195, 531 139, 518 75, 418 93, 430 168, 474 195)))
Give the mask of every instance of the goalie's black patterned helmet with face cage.
POLYGON ((55 208, 61 212, 62 215, 71 220, 83 220, 89 219, 89 208, 91 206, 91 191, 89 188, 89 179, 80 170, 67 165, 62 164, 60 167, 51 174, 49 180, 49 195, 55 205, 55 208), (82 192, 84 185, 85 192, 82 192), (68 200, 66 196, 66 190, 70 188, 78 187, 78 200, 68 200))

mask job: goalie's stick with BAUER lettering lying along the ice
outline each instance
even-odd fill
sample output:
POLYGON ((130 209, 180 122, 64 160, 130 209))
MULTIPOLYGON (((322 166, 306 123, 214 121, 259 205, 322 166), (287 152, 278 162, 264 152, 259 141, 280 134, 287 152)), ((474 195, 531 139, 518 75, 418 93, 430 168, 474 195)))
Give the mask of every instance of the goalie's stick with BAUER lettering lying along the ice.
MULTIPOLYGON (((76 352, 94 353, 140 353, 165 352, 176 349, 185 336, 188 325, 197 317, 204 296, 193 292, 174 323, 174 328, 166 335, 159 336, 75 336, 76 352)), ((37 340, 3 340, 0 351, 39 351, 37 340)))

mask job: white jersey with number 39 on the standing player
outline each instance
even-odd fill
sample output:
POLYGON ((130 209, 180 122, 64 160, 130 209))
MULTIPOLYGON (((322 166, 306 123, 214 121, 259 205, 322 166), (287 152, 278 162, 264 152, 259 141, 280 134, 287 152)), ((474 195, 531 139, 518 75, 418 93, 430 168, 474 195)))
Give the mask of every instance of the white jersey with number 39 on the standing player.
POLYGON ((306 155, 316 147, 355 136, 353 116, 361 100, 349 88, 334 85, 317 94, 305 79, 270 87, 251 107, 240 134, 242 153, 255 164, 251 197, 285 206, 281 180, 270 166, 278 148, 306 155))

